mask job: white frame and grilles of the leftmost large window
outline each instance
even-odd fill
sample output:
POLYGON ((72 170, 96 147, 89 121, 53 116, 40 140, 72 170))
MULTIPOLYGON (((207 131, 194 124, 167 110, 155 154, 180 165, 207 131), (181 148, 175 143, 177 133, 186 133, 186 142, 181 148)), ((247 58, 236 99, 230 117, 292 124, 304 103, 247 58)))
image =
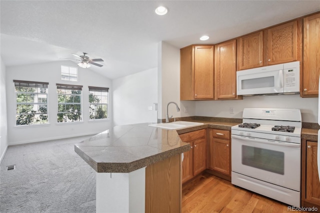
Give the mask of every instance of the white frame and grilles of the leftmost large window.
MULTIPOLYGON (((14 123, 15 123, 15 127, 26 127, 26 126, 39 126, 39 125, 48 125, 49 124, 49 86, 48 86, 48 82, 39 82, 39 81, 26 81, 26 80, 13 80, 13 86, 14 86, 14 101, 15 101, 15 112, 14 112, 14 123), (34 86, 32 85, 34 84, 34 86), (16 90, 16 87, 29 87, 29 88, 36 88, 36 92, 30 92, 30 91, 17 91, 16 90), (42 89, 41 91, 38 91, 38 89, 42 89), (43 88, 46 89, 46 92, 43 92, 43 88), (17 96, 18 94, 26 94, 26 97, 27 97, 27 94, 34 94, 36 95, 36 102, 34 102, 34 99, 35 97, 33 97, 33 102, 28 102, 28 100, 26 99, 26 102, 18 102, 17 101, 17 96), (46 95, 46 102, 38 102, 38 95, 43 95, 45 94, 46 95), (18 104, 19 105, 33 105, 32 109, 34 108, 34 105, 37 105, 37 109, 36 109, 36 112, 35 113, 17 113, 17 108, 18 108, 18 104), (45 113, 39 113, 39 106, 40 105, 46 105, 46 112, 45 113), (46 115, 47 118, 46 118, 46 121, 47 122, 36 122, 36 123, 32 123, 34 121, 34 119, 36 118, 33 118, 33 121, 31 121, 30 123, 27 123, 27 124, 17 124, 17 116, 18 115, 27 115, 27 114, 33 114, 33 115, 36 115, 36 114, 39 114, 40 115, 46 115)), ((42 98, 42 97, 40 97, 42 98)))

